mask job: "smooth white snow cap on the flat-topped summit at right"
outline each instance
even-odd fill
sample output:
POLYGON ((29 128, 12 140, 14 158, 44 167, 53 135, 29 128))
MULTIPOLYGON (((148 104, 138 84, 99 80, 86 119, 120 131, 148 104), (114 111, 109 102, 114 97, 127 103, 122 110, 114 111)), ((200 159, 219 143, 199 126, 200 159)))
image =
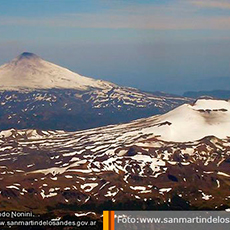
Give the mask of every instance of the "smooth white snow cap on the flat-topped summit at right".
POLYGON ((205 136, 230 136, 230 101, 200 99, 158 116, 143 133, 160 135, 166 141, 186 142, 205 136), (167 123, 166 123, 167 122, 167 123))

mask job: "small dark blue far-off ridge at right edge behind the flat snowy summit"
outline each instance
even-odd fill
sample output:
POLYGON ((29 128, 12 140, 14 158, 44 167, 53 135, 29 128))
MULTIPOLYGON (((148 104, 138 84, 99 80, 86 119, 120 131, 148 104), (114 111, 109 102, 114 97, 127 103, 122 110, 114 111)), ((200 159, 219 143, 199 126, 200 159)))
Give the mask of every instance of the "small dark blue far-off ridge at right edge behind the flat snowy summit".
POLYGON ((183 96, 190 97, 190 98, 209 96, 216 99, 230 99, 230 90, 188 91, 185 92, 183 96))

